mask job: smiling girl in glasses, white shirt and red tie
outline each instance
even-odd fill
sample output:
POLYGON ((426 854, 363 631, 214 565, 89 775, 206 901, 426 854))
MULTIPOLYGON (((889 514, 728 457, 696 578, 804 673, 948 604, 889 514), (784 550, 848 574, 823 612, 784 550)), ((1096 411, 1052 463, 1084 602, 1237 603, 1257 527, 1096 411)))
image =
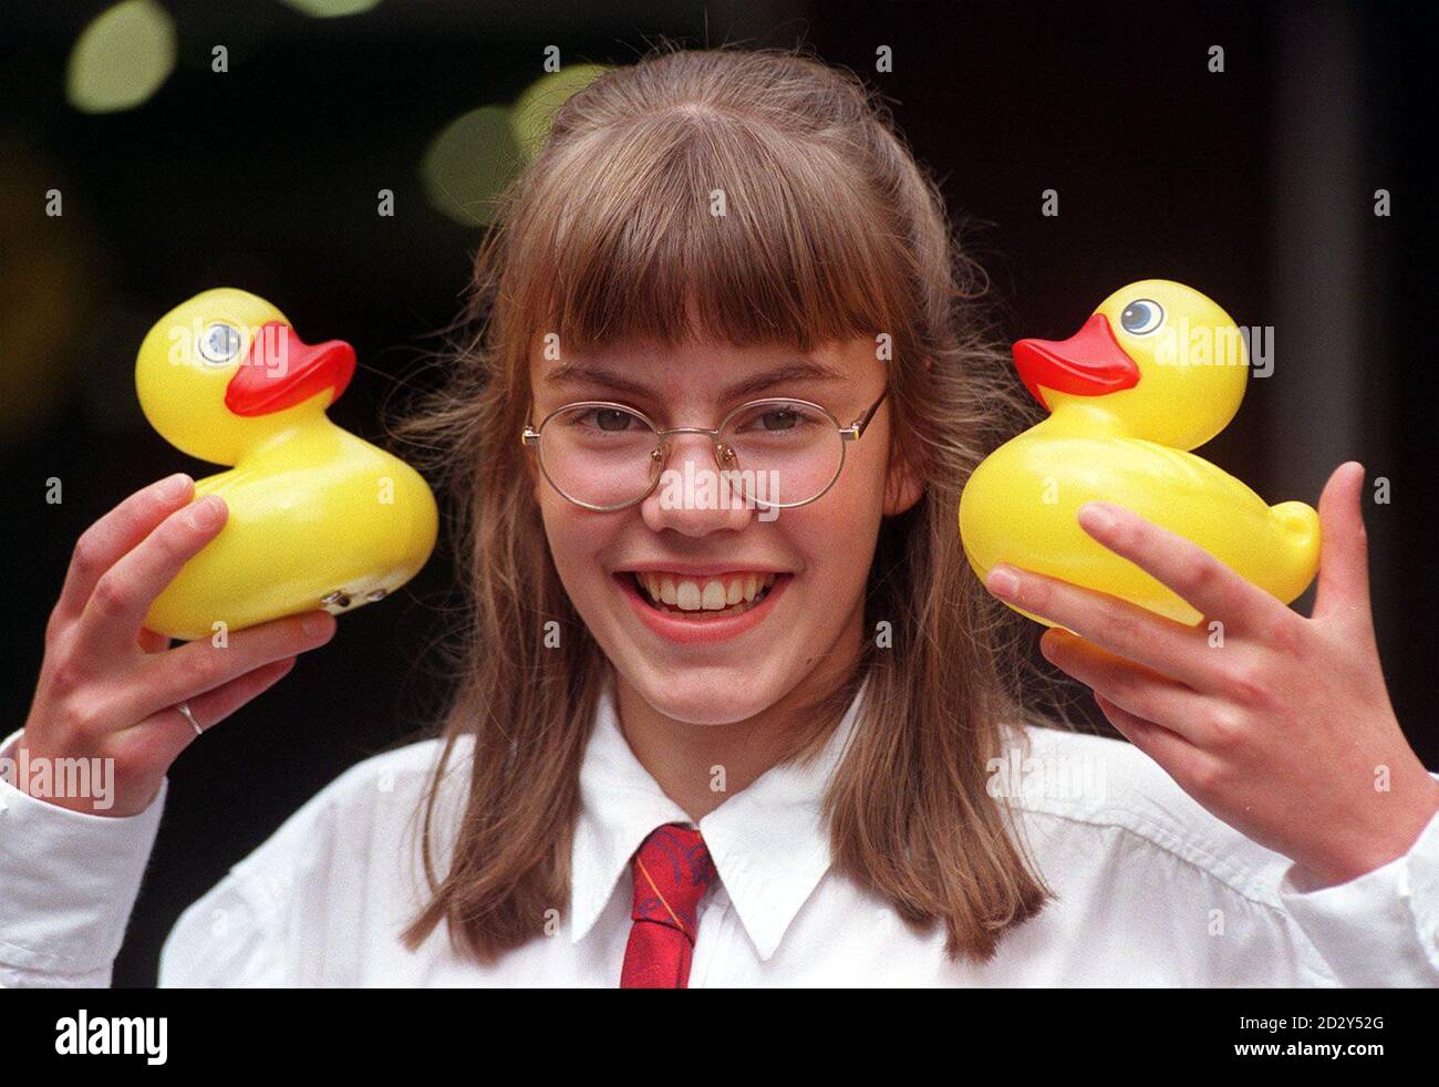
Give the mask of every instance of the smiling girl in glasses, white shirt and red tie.
MULTIPOLYGON (((1308 619, 1086 507, 1223 652, 1038 574, 979 585, 955 510, 1017 384, 884 107, 794 52, 604 75, 501 223, 482 331, 404 428, 442 454, 473 608, 443 736, 237 864, 161 983, 1439 982, 1439 783, 1384 690, 1358 465, 1308 619), (1045 727, 991 595, 1076 632, 1043 654, 1132 746, 1045 727)), ((114 757, 117 802, 0 786, 6 985, 108 980, 165 770, 334 631, 141 629, 223 524, 190 494, 76 547, 4 750, 114 757)))

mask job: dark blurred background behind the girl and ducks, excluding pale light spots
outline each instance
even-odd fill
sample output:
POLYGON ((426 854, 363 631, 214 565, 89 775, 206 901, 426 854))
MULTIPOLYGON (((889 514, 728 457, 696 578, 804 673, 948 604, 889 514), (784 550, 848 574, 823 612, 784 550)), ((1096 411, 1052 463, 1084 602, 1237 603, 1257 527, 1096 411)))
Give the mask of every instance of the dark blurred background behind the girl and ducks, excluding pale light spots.
MULTIPOLYGON (((417 164, 453 117, 512 102, 557 45, 566 65, 688 45, 812 45, 889 95, 901 130, 977 220, 1003 330, 1062 337, 1141 278, 1187 282, 1242 325, 1272 325, 1276 366, 1204 455, 1271 502, 1318 500, 1360 459, 1392 502, 1366 520, 1381 655, 1430 767, 1436 636, 1435 17, 1402 4, 679 3, 390 0, 347 19, 276 0, 164 0, 180 60, 138 108, 66 102, 65 65, 99 3, 7 3, 0 23, 0 684, 24 721, 40 632, 75 538, 168 472, 217 471, 150 429, 134 393, 145 330, 200 289, 279 305, 308 340, 355 344, 334 409, 383 442, 380 409, 420 383, 460 305, 481 233, 426 200, 417 164), (226 43, 230 71, 210 71, 226 43), (892 73, 875 50, 894 49, 892 73), (1225 72, 1207 71, 1225 48, 1225 72), (65 216, 46 217, 60 189, 65 216), (394 217, 376 215, 393 189, 394 217), (1040 193, 1059 191, 1059 217, 1040 193), (1389 189, 1392 217, 1373 215, 1389 189), (65 485, 45 502, 45 481, 65 485)), ((177 762, 160 839, 115 969, 150 985, 178 913, 345 766, 423 729, 453 605, 448 537, 396 599, 177 762)), ((1309 597, 1301 600, 1308 606, 1309 597)), ((3 878, 3 872, 0 872, 3 878)))

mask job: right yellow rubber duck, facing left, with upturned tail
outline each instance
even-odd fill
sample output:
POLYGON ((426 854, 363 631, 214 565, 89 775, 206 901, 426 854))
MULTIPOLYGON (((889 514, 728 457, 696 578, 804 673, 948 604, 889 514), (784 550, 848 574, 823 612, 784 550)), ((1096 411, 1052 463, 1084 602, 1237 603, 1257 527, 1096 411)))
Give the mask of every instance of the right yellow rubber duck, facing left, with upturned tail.
POLYGON ((1229 425, 1249 379, 1243 337, 1210 298, 1145 279, 1105 298, 1068 340, 1013 350, 1049 418, 987 456, 960 498, 960 536, 981 579, 1009 563, 1197 623, 1193 606, 1084 531, 1079 507, 1101 500, 1197 543, 1284 603, 1314 580, 1318 514, 1265 505, 1186 452, 1229 425))

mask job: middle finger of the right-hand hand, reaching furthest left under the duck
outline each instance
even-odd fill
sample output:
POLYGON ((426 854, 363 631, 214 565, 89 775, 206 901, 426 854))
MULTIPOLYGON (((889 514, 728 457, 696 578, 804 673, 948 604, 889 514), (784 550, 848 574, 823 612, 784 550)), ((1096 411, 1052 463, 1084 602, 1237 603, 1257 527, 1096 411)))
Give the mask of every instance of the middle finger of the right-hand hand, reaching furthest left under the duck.
POLYGON ((1066 626, 1095 645, 1138 661, 1196 691, 1217 690, 1223 682, 1213 668, 1200 628, 1177 623, 1107 593, 1012 566, 990 570, 986 586, 1002 600, 1066 626), (1013 592, 1004 583, 1004 574, 1016 579, 1013 592))

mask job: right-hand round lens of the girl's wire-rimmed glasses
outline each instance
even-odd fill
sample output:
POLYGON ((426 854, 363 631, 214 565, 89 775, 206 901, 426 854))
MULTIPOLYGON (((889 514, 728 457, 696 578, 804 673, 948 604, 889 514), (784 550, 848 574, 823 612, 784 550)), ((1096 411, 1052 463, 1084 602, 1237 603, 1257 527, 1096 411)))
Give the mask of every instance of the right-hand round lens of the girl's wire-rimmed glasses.
POLYGON ((845 458, 839 423, 799 400, 750 405, 725 423, 720 441, 734 451, 725 468, 758 505, 807 502, 833 482, 845 458))

